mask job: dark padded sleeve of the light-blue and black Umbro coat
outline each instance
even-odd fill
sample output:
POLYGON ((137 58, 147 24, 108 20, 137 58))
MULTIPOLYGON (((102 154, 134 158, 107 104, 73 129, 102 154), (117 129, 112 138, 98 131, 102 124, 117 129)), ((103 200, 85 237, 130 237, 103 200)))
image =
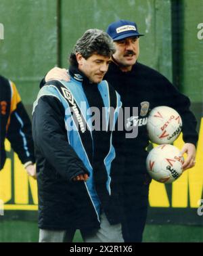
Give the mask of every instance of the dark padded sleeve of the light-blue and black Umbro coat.
POLYGON ((32 134, 35 150, 39 150, 45 161, 70 181, 76 175, 89 174, 89 171, 68 143, 64 115, 64 107, 58 98, 41 97, 33 113, 32 134))

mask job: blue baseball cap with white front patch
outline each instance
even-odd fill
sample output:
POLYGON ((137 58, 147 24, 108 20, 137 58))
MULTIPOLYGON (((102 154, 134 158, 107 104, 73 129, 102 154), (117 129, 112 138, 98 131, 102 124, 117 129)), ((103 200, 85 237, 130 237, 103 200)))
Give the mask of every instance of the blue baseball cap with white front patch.
POLYGON ((131 22, 129 20, 118 20, 111 23, 106 32, 114 41, 121 40, 126 37, 143 36, 142 34, 139 34, 135 22, 131 22))

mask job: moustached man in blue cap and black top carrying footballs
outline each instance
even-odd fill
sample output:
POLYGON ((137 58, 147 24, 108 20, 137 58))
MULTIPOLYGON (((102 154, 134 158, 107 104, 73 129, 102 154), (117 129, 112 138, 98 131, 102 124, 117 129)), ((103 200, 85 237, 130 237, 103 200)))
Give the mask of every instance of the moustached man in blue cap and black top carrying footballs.
MULTIPOLYGON (((195 165, 196 119, 189 111, 189 98, 177 89, 156 70, 137 62, 139 57, 139 37, 135 22, 118 20, 108 26, 108 35, 114 40, 116 52, 112 56, 105 79, 120 93, 123 107, 137 107, 138 116, 125 120, 126 127, 138 125, 138 135, 126 139, 125 146, 117 145, 117 161, 114 168, 122 168, 119 161, 125 156, 125 170, 122 178, 122 202, 125 219, 122 233, 125 242, 141 242, 148 211, 148 192, 151 182, 146 171, 145 159, 148 154, 149 137, 146 129, 148 114, 156 106, 175 108, 183 120, 182 153, 187 153, 183 169, 195 165), (185 125, 186 124, 186 125, 185 125)), ((65 69, 53 68, 47 73, 45 81, 64 79, 68 81, 65 69)), ((126 131, 125 131, 126 133, 126 131)), ((122 133, 121 135, 125 135, 122 133)))

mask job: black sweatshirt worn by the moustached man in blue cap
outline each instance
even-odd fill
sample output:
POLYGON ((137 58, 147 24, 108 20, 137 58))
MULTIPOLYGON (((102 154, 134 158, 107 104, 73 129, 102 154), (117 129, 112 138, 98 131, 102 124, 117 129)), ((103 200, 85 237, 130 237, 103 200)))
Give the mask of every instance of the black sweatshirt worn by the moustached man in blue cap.
MULTIPOLYGON (((139 127, 138 135, 134 139, 125 139, 125 147, 118 146, 119 168, 120 156, 125 154, 125 188, 141 192, 141 185, 150 182, 145 168, 148 154, 149 137, 146 129, 146 119, 152 108, 156 106, 170 106, 175 108, 183 121, 183 140, 196 145, 196 119, 189 110, 189 98, 180 93, 162 74, 137 62, 130 72, 122 72, 115 64, 110 64, 105 79, 118 91, 122 100, 122 107, 138 107, 139 127), (119 156, 120 155, 120 156, 119 156)), ((125 120, 127 123, 127 120, 125 120)), ((124 134, 123 134, 124 135, 124 134)), ((116 138, 115 138, 116 140, 116 138)))

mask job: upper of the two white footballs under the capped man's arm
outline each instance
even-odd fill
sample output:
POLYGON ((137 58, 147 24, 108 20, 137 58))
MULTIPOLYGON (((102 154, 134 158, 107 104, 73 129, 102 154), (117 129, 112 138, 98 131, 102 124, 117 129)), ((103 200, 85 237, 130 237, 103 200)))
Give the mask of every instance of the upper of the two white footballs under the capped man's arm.
POLYGON ((148 116, 148 135, 156 144, 171 144, 181 133, 182 120, 179 113, 168 106, 158 106, 148 116))

